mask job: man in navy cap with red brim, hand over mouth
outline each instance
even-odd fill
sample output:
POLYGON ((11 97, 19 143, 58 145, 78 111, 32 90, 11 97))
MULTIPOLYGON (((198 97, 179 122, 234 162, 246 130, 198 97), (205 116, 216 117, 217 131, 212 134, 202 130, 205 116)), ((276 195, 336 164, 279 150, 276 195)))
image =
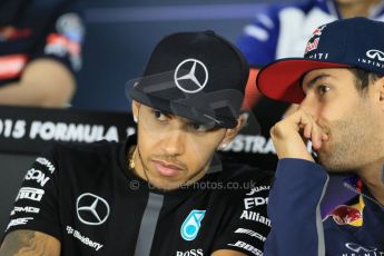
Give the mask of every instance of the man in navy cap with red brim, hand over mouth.
POLYGON ((270 129, 279 163, 266 255, 384 255, 382 38, 380 21, 327 23, 314 31, 304 58, 278 60, 257 77, 264 95, 299 104, 270 129), (351 174, 339 189, 356 193, 357 201, 338 206, 322 223, 326 170, 351 174))

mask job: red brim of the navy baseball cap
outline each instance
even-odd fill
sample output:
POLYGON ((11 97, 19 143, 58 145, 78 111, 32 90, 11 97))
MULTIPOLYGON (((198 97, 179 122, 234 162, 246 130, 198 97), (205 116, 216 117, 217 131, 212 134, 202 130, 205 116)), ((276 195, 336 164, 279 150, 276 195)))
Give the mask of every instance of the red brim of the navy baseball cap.
POLYGON ((314 69, 346 68, 349 65, 289 58, 276 60, 264 67, 256 78, 258 90, 275 100, 299 104, 305 95, 301 87, 302 77, 314 69))

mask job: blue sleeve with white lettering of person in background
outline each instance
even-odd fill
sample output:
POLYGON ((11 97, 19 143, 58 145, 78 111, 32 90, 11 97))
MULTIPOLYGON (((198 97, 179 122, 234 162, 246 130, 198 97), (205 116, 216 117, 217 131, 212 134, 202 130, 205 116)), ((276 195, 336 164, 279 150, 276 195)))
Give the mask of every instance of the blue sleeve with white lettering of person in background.
POLYGON ((256 19, 243 29, 236 45, 253 68, 262 68, 276 58, 279 33, 278 10, 270 6, 257 13, 256 19))

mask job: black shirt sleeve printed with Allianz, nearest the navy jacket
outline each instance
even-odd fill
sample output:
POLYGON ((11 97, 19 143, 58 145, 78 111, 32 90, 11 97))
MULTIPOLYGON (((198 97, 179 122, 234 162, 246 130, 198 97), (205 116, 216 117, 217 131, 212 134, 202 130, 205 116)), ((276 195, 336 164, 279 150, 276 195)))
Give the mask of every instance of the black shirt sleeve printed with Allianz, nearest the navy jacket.
POLYGON ((246 255, 263 255, 264 242, 270 229, 267 217, 269 179, 265 183, 254 183, 250 189, 230 191, 230 207, 226 209, 230 218, 224 224, 214 249, 232 249, 246 255))

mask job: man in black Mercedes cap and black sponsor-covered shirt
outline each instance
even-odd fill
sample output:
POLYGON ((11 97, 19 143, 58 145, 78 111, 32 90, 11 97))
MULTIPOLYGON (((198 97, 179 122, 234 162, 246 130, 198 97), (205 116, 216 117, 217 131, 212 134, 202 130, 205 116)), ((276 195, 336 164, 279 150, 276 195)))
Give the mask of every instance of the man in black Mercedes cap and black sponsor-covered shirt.
POLYGON ((163 39, 129 82, 137 137, 38 158, 1 255, 263 255, 270 176, 216 154, 243 125, 247 77, 211 31, 163 39))

